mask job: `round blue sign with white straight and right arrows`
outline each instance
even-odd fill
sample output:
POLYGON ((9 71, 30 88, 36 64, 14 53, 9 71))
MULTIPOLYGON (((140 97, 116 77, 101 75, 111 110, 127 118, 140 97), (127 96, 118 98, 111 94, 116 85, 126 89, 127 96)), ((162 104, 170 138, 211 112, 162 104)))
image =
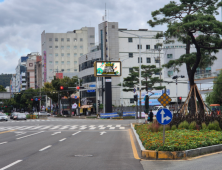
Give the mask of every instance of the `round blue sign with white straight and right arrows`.
POLYGON ((160 109, 156 114, 156 120, 162 124, 167 125, 173 119, 173 114, 168 109, 160 109))

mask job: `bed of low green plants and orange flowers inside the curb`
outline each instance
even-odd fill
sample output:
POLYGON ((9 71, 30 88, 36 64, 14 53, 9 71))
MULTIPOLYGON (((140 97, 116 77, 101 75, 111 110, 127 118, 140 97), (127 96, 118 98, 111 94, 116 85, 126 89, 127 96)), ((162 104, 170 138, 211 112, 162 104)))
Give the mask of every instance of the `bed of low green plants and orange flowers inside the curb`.
POLYGON ((163 146, 163 132, 151 132, 148 130, 148 126, 147 124, 135 125, 135 130, 146 150, 184 151, 222 144, 221 131, 176 129, 165 132, 165 145, 163 146))

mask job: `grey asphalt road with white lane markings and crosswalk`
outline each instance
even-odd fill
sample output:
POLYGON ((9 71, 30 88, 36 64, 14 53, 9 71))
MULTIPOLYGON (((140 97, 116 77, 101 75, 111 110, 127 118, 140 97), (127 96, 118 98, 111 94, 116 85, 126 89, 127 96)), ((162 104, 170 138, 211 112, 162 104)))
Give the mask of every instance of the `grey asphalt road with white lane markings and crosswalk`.
POLYGON ((131 122, 135 120, 0 122, 0 170, 222 169, 221 153, 180 161, 135 159, 135 150, 141 155, 135 138, 130 138, 131 122))

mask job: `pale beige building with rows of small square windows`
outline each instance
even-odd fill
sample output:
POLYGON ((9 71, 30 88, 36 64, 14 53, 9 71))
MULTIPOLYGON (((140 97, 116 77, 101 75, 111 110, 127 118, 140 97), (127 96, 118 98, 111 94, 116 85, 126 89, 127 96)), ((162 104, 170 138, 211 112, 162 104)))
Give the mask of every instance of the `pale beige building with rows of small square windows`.
POLYGON ((95 45, 95 28, 83 27, 67 33, 41 34, 42 79, 51 82, 60 72, 78 73, 78 58, 95 45))

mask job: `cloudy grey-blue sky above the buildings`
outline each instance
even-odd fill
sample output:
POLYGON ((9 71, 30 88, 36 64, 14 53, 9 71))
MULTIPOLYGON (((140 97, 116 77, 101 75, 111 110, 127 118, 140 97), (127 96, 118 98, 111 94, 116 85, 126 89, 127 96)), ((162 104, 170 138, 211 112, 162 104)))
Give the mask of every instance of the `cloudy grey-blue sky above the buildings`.
MULTIPOLYGON (((120 28, 151 28, 151 11, 170 0, 0 0, 0 74, 15 73, 21 56, 41 50, 41 33, 65 33, 102 22, 105 3, 108 20, 120 28)), ((176 0, 178 1, 178 0, 176 0)))

